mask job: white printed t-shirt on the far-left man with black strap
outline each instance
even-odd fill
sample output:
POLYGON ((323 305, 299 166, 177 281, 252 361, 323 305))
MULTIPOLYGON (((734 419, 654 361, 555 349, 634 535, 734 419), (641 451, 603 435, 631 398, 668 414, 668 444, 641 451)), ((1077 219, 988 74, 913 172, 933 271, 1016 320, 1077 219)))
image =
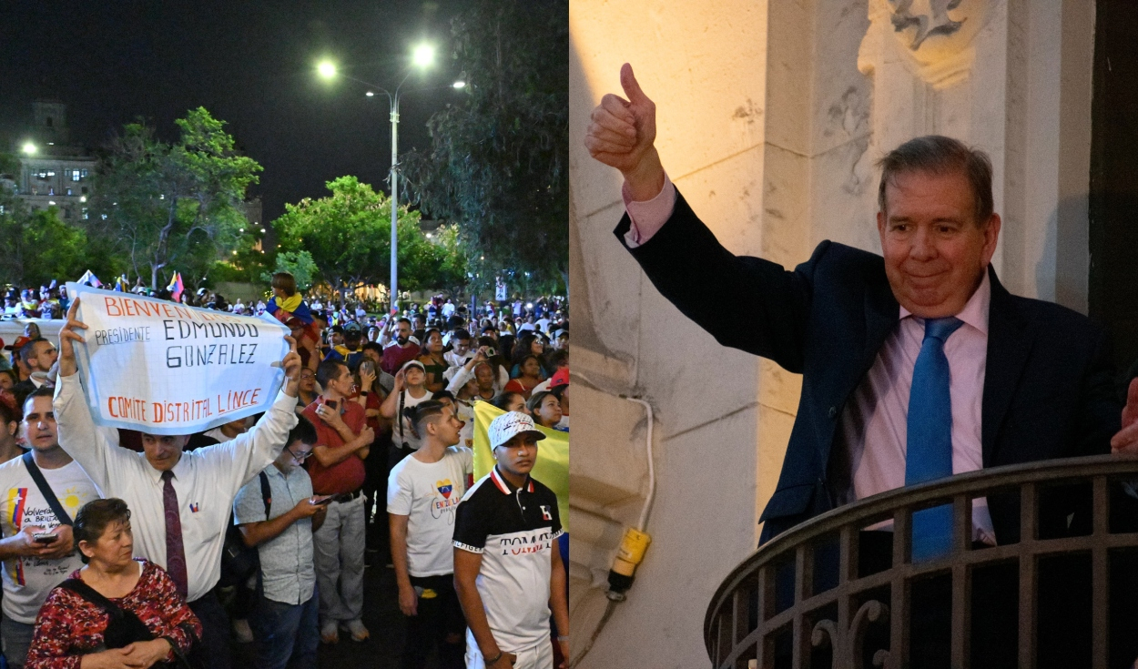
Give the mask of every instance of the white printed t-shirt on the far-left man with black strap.
MULTIPOLYGON (((43 479, 56 494, 64 511, 75 520, 79 510, 99 498, 99 490, 77 462, 58 469, 43 469, 43 479)), ((39 526, 43 531, 59 527, 39 486, 32 480, 23 457, 0 464, 0 530, 5 538, 24 526, 39 526)), ((76 550, 68 558, 13 558, 3 562, 3 614, 16 622, 31 625, 51 588, 67 579, 67 575, 83 567, 76 550)))

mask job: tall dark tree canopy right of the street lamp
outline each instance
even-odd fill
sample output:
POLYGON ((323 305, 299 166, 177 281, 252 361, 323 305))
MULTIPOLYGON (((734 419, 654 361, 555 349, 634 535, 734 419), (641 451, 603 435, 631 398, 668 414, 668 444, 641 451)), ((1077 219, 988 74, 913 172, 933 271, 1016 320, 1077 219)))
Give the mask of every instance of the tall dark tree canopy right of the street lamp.
MULTIPOLYGON (((428 122, 406 188, 506 275, 568 286, 568 0, 475 0, 452 22, 467 99, 428 122)), ((473 253, 471 255, 475 255, 473 253)))

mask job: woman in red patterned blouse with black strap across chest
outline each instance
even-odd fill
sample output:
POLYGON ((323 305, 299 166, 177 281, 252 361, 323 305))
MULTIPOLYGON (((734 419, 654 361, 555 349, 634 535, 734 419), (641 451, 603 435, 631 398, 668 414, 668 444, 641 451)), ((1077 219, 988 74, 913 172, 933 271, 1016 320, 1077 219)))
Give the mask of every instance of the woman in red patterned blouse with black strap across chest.
POLYGON ((85 567, 59 584, 35 619, 27 669, 188 667, 201 622, 165 570, 132 559, 131 512, 96 499, 75 515, 85 567))

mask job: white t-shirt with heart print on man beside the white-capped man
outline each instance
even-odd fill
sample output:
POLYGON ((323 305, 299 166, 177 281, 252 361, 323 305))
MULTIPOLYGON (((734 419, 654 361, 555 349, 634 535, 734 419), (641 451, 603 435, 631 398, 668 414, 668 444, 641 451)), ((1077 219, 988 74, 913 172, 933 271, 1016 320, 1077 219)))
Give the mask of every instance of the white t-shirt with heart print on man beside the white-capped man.
POLYGON ((420 462, 409 455, 391 468, 387 512, 407 515, 407 571, 411 576, 454 573, 454 509, 475 471, 470 448, 451 446, 443 460, 420 462))

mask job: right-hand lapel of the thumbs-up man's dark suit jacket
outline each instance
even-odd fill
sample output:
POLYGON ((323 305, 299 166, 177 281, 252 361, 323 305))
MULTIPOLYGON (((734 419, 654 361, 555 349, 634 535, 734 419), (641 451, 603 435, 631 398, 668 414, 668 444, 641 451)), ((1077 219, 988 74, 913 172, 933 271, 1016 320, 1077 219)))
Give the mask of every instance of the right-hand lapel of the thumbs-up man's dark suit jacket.
POLYGON ((1034 328, 1020 313, 1012 294, 999 283, 990 266, 988 276, 992 297, 988 308, 988 361, 980 419, 986 468, 997 464, 996 436, 1015 396, 1034 339, 1034 328))

